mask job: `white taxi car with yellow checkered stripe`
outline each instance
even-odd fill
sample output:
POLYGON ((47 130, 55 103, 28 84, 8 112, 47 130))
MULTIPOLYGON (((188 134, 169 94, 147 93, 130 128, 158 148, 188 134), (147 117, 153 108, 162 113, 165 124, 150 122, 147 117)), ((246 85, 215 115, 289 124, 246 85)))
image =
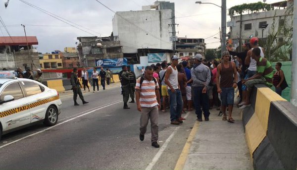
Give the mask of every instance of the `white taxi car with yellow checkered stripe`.
POLYGON ((13 75, 12 71, 0 71, 0 138, 35 122, 55 125, 62 105, 58 92, 13 75), (10 78, 3 78, 7 76, 10 78))

